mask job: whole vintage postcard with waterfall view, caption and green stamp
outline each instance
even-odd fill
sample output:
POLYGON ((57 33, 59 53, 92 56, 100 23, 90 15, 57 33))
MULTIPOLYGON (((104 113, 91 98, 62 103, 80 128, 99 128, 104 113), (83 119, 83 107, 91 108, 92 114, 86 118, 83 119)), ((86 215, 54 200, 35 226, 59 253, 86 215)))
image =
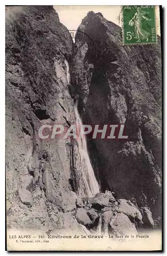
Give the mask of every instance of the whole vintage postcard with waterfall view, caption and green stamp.
POLYGON ((160 7, 5 12, 7 250, 161 250, 160 7))

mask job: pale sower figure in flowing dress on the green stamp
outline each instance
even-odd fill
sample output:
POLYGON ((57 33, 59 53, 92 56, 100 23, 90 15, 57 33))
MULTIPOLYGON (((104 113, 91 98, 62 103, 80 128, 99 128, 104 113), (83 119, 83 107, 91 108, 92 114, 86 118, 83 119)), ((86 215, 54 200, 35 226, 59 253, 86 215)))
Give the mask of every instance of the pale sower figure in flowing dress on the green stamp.
POLYGON ((142 20, 151 20, 151 18, 145 16, 147 13, 148 12, 141 10, 140 7, 137 7, 136 13, 129 22, 130 26, 134 26, 137 42, 141 42, 144 39, 146 39, 146 42, 149 40, 150 33, 142 29, 142 20))

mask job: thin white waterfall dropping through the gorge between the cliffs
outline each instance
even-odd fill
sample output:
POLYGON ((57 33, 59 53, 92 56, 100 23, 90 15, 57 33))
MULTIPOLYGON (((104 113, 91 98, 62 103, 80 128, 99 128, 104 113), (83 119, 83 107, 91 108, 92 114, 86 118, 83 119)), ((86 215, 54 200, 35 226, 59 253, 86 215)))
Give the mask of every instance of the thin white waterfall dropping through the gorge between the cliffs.
MULTIPOLYGON (((67 60, 65 60, 65 64, 67 67, 67 81, 70 83, 70 72, 69 72, 69 65, 67 60)), ((75 112, 75 118, 76 118, 76 125, 78 127, 82 126, 82 121, 78 113, 77 109, 77 101, 74 108, 75 112)), ((78 150, 81 160, 81 168, 80 168, 80 174, 82 176, 82 184, 79 184, 79 195, 81 197, 94 197, 97 193, 99 193, 99 185, 96 180, 94 170, 92 168, 92 164, 90 162, 88 149, 87 149, 87 141, 85 135, 80 138, 78 136, 77 138, 78 143, 78 150)))

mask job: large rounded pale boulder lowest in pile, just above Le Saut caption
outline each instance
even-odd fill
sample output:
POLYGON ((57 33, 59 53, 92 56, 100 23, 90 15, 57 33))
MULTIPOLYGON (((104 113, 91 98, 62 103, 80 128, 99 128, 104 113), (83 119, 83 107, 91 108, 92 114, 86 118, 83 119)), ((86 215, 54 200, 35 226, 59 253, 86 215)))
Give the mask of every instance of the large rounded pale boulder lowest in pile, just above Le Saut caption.
POLYGON ((137 230, 125 214, 113 216, 109 222, 109 228, 112 233, 125 236, 126 234, 137 234, 137 230))

